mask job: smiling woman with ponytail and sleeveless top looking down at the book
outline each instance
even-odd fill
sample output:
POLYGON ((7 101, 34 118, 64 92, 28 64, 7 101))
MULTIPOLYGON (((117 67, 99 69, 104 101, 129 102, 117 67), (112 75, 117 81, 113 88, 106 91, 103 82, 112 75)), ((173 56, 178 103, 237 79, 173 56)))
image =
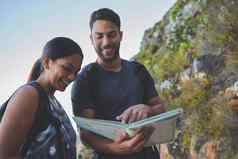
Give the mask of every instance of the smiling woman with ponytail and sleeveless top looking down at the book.
POLYGON ((54 97, 75 79, 83 60, 77 43, 56 37, 45 45, 28 83, 10 98, 0 124, 0 158, 76 158, 76 135, 54 97))

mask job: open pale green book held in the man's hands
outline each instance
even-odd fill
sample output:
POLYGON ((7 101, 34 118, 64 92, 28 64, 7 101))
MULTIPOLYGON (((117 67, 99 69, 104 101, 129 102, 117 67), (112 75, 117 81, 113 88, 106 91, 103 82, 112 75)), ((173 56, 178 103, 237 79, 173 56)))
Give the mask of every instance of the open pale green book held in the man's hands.
POLYGON ((118 129, 125 130, 130 136, 133 130, 144 126, 152 126, 154 131, 145 146, 166 143, 174 139, 176 121, 182 109, 174 109, 159 115, 148 117, 133 123, 73 117, 78 127, 89 130, 109 139, 115 139, 118 129))

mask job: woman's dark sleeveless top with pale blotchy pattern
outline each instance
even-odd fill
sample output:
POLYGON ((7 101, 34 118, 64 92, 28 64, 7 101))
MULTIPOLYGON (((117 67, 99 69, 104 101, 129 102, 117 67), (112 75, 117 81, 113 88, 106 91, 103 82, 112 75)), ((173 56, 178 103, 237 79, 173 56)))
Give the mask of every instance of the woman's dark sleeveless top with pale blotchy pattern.
POLYGON ((36 88, 40 102, 21 155, 25 159, 76 159, 76 134, 61 104, 36 81, 27 85, 36 88))

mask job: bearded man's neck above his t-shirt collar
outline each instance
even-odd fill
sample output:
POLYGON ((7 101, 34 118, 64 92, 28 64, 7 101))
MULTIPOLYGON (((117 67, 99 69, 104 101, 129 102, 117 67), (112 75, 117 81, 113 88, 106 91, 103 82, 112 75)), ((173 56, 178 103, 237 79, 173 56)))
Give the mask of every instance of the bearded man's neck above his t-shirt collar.
POLYGON ((96 62, 107 71, 119 72, 121 70, 122 60, 119 57, 110 62, 105 62, 102 59, 97 58, 96 62))

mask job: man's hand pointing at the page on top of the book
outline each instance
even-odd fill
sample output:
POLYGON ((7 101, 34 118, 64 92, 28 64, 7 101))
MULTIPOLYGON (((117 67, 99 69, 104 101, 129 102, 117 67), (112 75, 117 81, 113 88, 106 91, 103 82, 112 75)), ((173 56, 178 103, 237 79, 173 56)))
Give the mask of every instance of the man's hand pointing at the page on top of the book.
POLYGON ((117 120, 123 123, 131 123, 150 116, 151 107, 145 104, 138 104, 129 107, 121 115, 117 116, 117 120))

